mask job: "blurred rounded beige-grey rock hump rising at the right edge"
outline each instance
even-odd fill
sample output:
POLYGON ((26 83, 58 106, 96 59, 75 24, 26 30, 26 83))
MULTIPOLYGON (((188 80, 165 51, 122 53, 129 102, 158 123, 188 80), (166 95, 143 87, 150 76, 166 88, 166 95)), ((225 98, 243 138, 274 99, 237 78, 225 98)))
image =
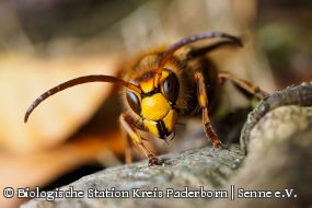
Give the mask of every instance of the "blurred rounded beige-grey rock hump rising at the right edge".
POLYGON ((251 131, 244 164, 229 184, 250 190, 291 192, 290 198, 213 201, 212 207, 312 207, 312 107, 284 106, 251 131))

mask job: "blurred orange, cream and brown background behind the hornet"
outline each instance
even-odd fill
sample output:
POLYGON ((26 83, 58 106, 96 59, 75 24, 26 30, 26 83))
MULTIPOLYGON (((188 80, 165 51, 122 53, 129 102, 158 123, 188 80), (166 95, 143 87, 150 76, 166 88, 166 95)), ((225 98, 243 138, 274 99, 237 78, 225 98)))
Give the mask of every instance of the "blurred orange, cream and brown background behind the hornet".
MULTIPOLYGON (((268 92, 311 81, 311 9, 309 0, 0 1, 0 207, 26 200, 3 198, 3 187, 50 189, 124 163, 116 86, 67 90, 44 102, 25 125, 24 113, 41 93, 79 76, 118 76, 137 54, 204 31, 243 39, 244 48, 208 55, 220 70, 268 92)), ((221 112, 230 113, 215 119, 220 132, 220 120, 236 124, 233 112, 249 105, 230 85, 222 96, 221 112)), ((184 122, 177 137, 201 137, 200 142, 176 139, 159 152, 203 145, 200 120, 184 122)))

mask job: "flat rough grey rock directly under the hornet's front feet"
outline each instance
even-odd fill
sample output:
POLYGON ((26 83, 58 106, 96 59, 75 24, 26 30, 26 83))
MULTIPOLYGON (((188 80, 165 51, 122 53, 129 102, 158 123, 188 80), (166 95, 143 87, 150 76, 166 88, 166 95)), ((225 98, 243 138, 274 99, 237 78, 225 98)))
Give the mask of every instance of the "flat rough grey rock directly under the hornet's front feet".
MULTIPOLYGON (((243 154, 239 145, 232 145, 228 149, 213 150, 211 147, 201 149, 193 149, 182 153, 171 153, 160 157, 164 161, 163 165, 148 166, 147 161, 134 163, 130 165, 122 165, 109 167, 92 175, 82 177, 81 180, 69 184, 62 189, 72 186, 76 190, 83 190, 84 196, 88 192, 105 190, 115 188, 115 190, 129 190, 132 195, 134 188, 141 190, 165 190, 166 188, 213 189, 222 187, 234 170, 236 170, 243 159, 243 154)), ((116 193, 117 194, 117 193, 116 193)), ((165 192, 164 192, 165 194, 165 192)), ((63 199, 59 198, 55 201, 45 201, 45 199, 33 199, 22 207, 115 207, 125 205, 127 207, 137 207, 138 205, 159 205, 164 203, 161 199, 142 199, 142 198, 81 198, 63 199)), ((180 200, 170 199, 174 205, 180 200)), ((188 200, 188 206, 194 201, 188 200)), ((207 203, 205 198, 197 201, 198 205, 207 203)), ((185 206, 183 203, 181 206, 185 206)))

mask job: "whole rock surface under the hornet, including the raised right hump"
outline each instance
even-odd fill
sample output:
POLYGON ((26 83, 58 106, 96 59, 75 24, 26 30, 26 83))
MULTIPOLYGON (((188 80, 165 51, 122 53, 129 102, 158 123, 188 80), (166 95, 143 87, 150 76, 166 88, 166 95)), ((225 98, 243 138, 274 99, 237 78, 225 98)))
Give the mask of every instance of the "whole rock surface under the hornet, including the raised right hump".
MULTIPOLYGON (((165 190, 224 189, 228 198, 58 198, 54 201, 33 199, 23 208, 63 207, 309 207, 312 187, 312 108, 278 107, 266 114, 251 131, 249 154, 244 159, 239 145, 228 149, 211 147, 193 149, 161 157, 162 166, 147 166, 147 161, 106 169, 62 187, 84 190, 115 187, 165 190), (244 160, 243 160, 244 159, 244 160), (230 200, 230 185, 235 186, 235 200, 230 200), (281 190, 293 189, 288 199, 240 199, 238 189, 281 190)), ((131 192, 130 192, 131 196, 131 192)))

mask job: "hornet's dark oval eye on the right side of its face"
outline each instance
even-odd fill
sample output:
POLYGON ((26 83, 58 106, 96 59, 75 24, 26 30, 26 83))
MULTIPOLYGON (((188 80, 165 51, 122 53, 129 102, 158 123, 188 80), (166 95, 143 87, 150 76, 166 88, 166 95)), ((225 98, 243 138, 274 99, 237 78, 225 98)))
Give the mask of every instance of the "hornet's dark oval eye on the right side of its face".
POLYGON ((175 103, 177 100, 178 90, 178 79, 175 73, 171 72, 162 83, 162 91, 170 102, 175 103))

